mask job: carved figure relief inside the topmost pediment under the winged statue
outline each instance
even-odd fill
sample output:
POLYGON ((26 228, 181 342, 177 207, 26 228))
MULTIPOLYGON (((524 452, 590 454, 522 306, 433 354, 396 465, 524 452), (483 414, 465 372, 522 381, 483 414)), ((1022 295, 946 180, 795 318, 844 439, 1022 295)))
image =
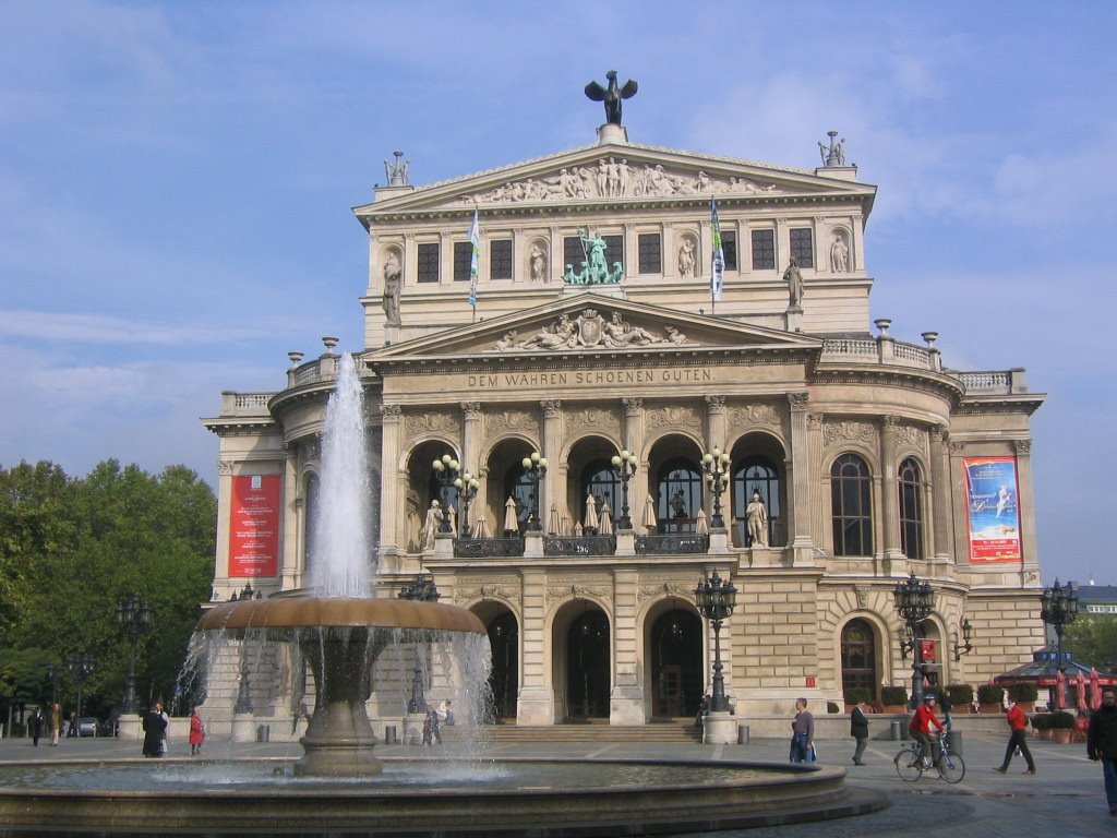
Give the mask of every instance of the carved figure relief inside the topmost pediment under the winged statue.
POLYGON ((560 169, 556 174, 509 181, 487 192, 462 196, 462 203, 518 203, 571 199, 670 198, 674 196, 764 194, 774 183, 712 177, 705 171, 667 171, 662 164, 632 165, 627 158, 602 158, 596 165, 560 169))

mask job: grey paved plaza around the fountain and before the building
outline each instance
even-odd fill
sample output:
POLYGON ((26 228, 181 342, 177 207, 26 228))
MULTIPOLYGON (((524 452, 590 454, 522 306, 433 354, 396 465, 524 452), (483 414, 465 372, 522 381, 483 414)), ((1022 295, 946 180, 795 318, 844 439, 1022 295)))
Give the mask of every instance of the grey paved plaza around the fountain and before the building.
MULTIPOLYGON (((853 818, 781 827, 761 827, 700 834, 706 838, 1095 838, 1117 836, 1117 817, 1110 817, 1101 784, 1101 768, 1086 758, 1081 744, 1057 745, 1031 741, 1039 773, 1023 774, 1022 758, 1013 759, 1008 774, 993 771, 1001 763, 1008 736, 963 735, 965 779, 948 785, 924 775, 916 783, 903 782, 896 774, 892 756, 901 742, 870 740, 865 754, 866 765, 851 764, 853 741, 822 741, 820 762, 848 770, 847 783, 855 789, 876 790, 887 796, 890 806, 881 811, 853 818)), ((41 740, 32 747, 30 740, 0 740, 0 761, 113 760, 135 759, 140 742, 113 739, 64 740, 51 747, 41 740)), ((380 745, 385 758, 407 755, 414 751, 407 745, 380 745)), ((172 741, 170 759, 190 759, 190 746, 172 741)), ((300 753, 290 743, 219 743, 208 742, 206 755, 222 756, 292 756, 300 753)), ((758 760, 783 762, 787 759, 787 741, 753 739, 746 745, 700 744, 603 744, 540 743, 493 744, 488 753, 499 756, 570 756, 643 759, 686 758, 708 760, 758 760)))

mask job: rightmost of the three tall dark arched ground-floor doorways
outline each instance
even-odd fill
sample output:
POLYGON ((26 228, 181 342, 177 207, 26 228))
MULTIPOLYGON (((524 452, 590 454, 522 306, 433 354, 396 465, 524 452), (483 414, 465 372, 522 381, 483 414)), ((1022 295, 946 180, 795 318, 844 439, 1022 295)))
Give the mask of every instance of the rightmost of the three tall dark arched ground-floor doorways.
POLYGON ((672 609, 651 626, 651 715, 694 716, 703 687, 703 625, 690 611, 672 609))

